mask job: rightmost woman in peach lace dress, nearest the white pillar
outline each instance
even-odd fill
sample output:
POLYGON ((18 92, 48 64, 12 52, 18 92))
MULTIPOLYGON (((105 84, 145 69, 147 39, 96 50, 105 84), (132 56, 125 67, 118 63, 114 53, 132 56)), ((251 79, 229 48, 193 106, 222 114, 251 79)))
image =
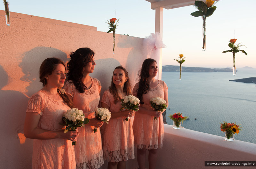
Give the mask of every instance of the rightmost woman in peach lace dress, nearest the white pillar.
POLYGON ((133 88, 133 95, 140 99, 140 109, 134 116, 134 142, 137 144, 137 161, 140 169, 145 169, 148 150, 149 169, 156 168, 157 149, 162 148, 164 122, 162 113, 150 106, 150 99, 160 97, 166 100, 168 107, 168 87, 162 80, 155 79, 157 63, 146 59, 139 71, 140 81, 133 88), (157 120, 154 120, 154 118, 157 120))

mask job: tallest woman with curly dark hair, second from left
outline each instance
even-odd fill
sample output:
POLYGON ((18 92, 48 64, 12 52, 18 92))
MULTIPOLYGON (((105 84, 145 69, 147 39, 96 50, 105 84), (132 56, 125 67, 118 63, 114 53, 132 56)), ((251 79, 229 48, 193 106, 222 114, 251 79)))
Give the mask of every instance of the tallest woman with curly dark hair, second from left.
POLYGON ((76 108, 83 110, 90 122, 80 128, 80 136, 75 146, 76 168, 97 169, 103 165, 103 151, 100 130, 93 133, 95 127, 101 127, 103 122, 95 118, 94 110, 100 102, 100 81, 90 77, 96 63, 94 52, 90 48, 79 48, 70 53, 68 62, 68 81, 64 88, 76 108))

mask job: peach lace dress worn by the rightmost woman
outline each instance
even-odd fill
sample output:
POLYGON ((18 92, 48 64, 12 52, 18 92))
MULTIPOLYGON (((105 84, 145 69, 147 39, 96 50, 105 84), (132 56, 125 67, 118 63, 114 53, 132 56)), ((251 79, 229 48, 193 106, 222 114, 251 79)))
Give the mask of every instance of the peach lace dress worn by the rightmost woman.
MULTIPOLYGON (((164 99, 164 92, 168 90, 167 85, 162 80, 158 80, 159 83, 156 87, 150 88, 146 94, 143 94, 144 104, 140 104, 148 110, 153 110, 150 106, 150 99, 160 97, 164 99)), ((137 97, 137 89, 139 83, 137 83, 132 94, 137 97)), ((154 120, 154 116, 149 114, 135 113, 133 121, 133 134, 134 142, 137 144, 138 149, 158 149, 163 147, 164 141, 164 121, 163 116, 154 120)))

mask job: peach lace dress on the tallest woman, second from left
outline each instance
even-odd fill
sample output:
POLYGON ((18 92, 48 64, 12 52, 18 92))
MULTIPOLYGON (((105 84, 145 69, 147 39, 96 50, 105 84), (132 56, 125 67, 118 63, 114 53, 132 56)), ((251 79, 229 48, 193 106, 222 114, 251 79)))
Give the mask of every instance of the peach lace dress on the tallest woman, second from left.
MULTIPOLYGON (((83 110, 86 118, 92 119, 96 117, 94 110, 99 105, 99 91, 101 89, 98 79, 92 78, 92 87, 85 90, 85 93, 79 93, 72 81, 67 81, 64 89, 73 98, 75 107, 83 110)), ((90 125, 79 128, 80 134, 77 137, 75 146, 77 169, 97 169, 104 163, 100 129, 96 133, 93 133, 93 129, 94 126, 90 125)))

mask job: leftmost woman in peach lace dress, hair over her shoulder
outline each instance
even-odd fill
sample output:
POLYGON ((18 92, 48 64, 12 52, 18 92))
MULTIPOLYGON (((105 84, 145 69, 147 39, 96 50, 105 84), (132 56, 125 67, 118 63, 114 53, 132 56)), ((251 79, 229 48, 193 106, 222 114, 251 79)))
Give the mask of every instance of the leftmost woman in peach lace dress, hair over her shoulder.
POLYGON ((66 79, 66 67, 58 58, 47 58, 40 66, 43 88, 31 96, 24 124, 24 134, 33 138, 32 168, 76 168, 74 146, 78 130, 64 133, 63 114, 73 107, 67 94, 58 91, 66 79))

